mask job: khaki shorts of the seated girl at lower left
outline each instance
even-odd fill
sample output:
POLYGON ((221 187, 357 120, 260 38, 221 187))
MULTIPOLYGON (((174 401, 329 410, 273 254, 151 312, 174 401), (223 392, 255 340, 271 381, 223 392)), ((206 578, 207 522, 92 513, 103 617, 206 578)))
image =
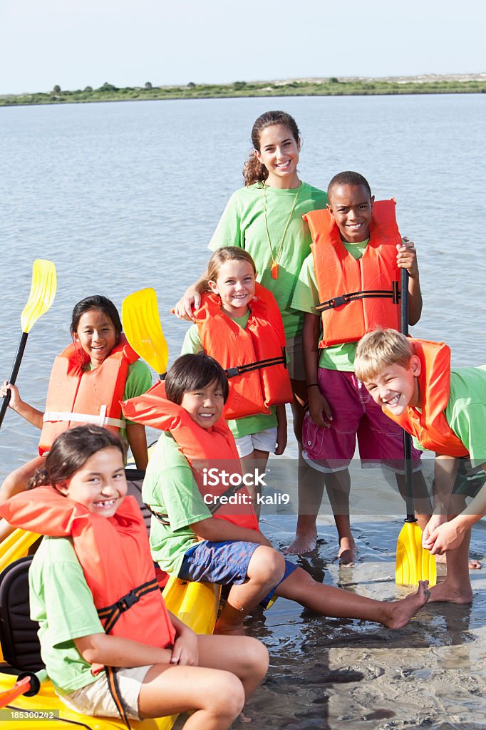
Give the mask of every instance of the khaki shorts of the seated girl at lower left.
MULTIPOLYGON (((139 720, 139 694, 142 682, 151 666, 131 666, 116 669, 118 687, 123 699, 126 714, 130 720, 139 720)), ((120 714, 109 691, 105 672, 94 682, 61 695, 61 699, 70 710, 82 715, 105 715, 108 718, 119 718, 120 714)))

